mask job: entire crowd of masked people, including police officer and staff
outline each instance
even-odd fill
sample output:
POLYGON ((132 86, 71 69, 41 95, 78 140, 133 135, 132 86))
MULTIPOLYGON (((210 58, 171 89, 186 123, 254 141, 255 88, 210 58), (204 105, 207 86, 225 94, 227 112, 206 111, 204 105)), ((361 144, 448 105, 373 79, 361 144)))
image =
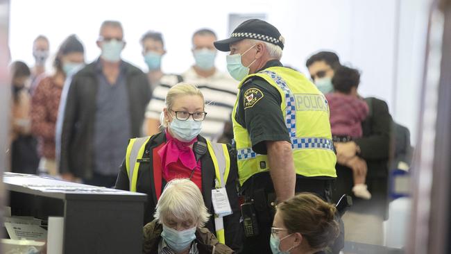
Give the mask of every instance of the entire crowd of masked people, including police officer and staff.
POLYGON ((147 73, 121 58, 121 23, 105 21, 99 58, 85 65, 71 35, 46 76, 49 42, 37 37, 33 71, 10 68, 12 170, 147 194, 143 253, 382 244, 392 119, 384 101, 359 94, 357 69, 330 51, 307 60, 311 80, 284 67, 285 39, 260 19, 226 40, 196 31, 195 64, 180 75, 161 69, 161 33, 140 43, 147 73), (230 52, 228 74, 217 50, 230 52), (354 205, 340 218, 343 194, 354 205))

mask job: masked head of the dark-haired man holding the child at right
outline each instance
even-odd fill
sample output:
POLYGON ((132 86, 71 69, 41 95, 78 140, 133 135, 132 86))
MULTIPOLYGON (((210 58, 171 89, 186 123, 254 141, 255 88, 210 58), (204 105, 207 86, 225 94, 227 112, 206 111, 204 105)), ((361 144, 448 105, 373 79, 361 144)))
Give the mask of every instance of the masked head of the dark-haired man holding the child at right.
POLYGON ((305 65, 318 90, 323 94, 332 92, 334 70, 341 65, 337 54, 331 51, 320 51, 310 56, 305 65))

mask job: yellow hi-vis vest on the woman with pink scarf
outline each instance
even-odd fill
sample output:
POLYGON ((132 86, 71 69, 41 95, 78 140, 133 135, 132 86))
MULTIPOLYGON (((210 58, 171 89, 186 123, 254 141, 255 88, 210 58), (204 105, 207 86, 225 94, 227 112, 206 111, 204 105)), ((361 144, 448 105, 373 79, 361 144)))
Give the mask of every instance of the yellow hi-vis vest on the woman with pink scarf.
MULTIPOLYGON (((126 151, 126 169, 129 180, 130 192, 136 192, 136 183, 139 171, 139 161, 142 159, 146 144, 151 137, 138 137, 130 139, 126 151)), ((225 188, 228 174, 230 171, 230 155, 226 144, 212 143, 207 140, 207 147, 212 156, 214 172, 216 176, 215 188, 225 188)), ((214 215, 214 227, 216 230, 216 238, 221 244, 226 244, 226 236, 224 234, 223 217, 218 214, 214 215)))

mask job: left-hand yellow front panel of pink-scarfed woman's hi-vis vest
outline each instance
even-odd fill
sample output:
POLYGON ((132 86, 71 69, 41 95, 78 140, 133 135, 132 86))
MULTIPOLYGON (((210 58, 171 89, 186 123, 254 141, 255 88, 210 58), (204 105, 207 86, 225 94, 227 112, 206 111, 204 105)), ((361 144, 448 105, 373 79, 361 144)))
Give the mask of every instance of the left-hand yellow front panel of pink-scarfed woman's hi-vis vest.
POLYGON ((136 180, 138 176, 139 162, 137 160, 142 159, 144 149, 146 147, 149 137, 137 137, 130 139, 130 143, 127 146, 126 153, 126 169, 128 174, 128 181, 130 192, 136 192, 136 180))

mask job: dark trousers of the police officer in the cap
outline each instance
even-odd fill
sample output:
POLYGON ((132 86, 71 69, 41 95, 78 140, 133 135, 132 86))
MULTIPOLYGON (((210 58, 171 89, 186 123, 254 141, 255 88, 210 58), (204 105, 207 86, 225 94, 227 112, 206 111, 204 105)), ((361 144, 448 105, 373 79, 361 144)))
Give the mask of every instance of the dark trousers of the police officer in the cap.
MULTIPOLYGON (((324 201, 332 201, 333 180, 318 178, 296 177, 296 193, 311 192, 318 195, 324 201)), ((243 194, 254 200, 255 214, 259 235, 245 237, 243 253, 271 254, 269 238, 275 210, 271 202, 274 201, 274 187, 269 172, 258 173, 244 183, 243 194)))

